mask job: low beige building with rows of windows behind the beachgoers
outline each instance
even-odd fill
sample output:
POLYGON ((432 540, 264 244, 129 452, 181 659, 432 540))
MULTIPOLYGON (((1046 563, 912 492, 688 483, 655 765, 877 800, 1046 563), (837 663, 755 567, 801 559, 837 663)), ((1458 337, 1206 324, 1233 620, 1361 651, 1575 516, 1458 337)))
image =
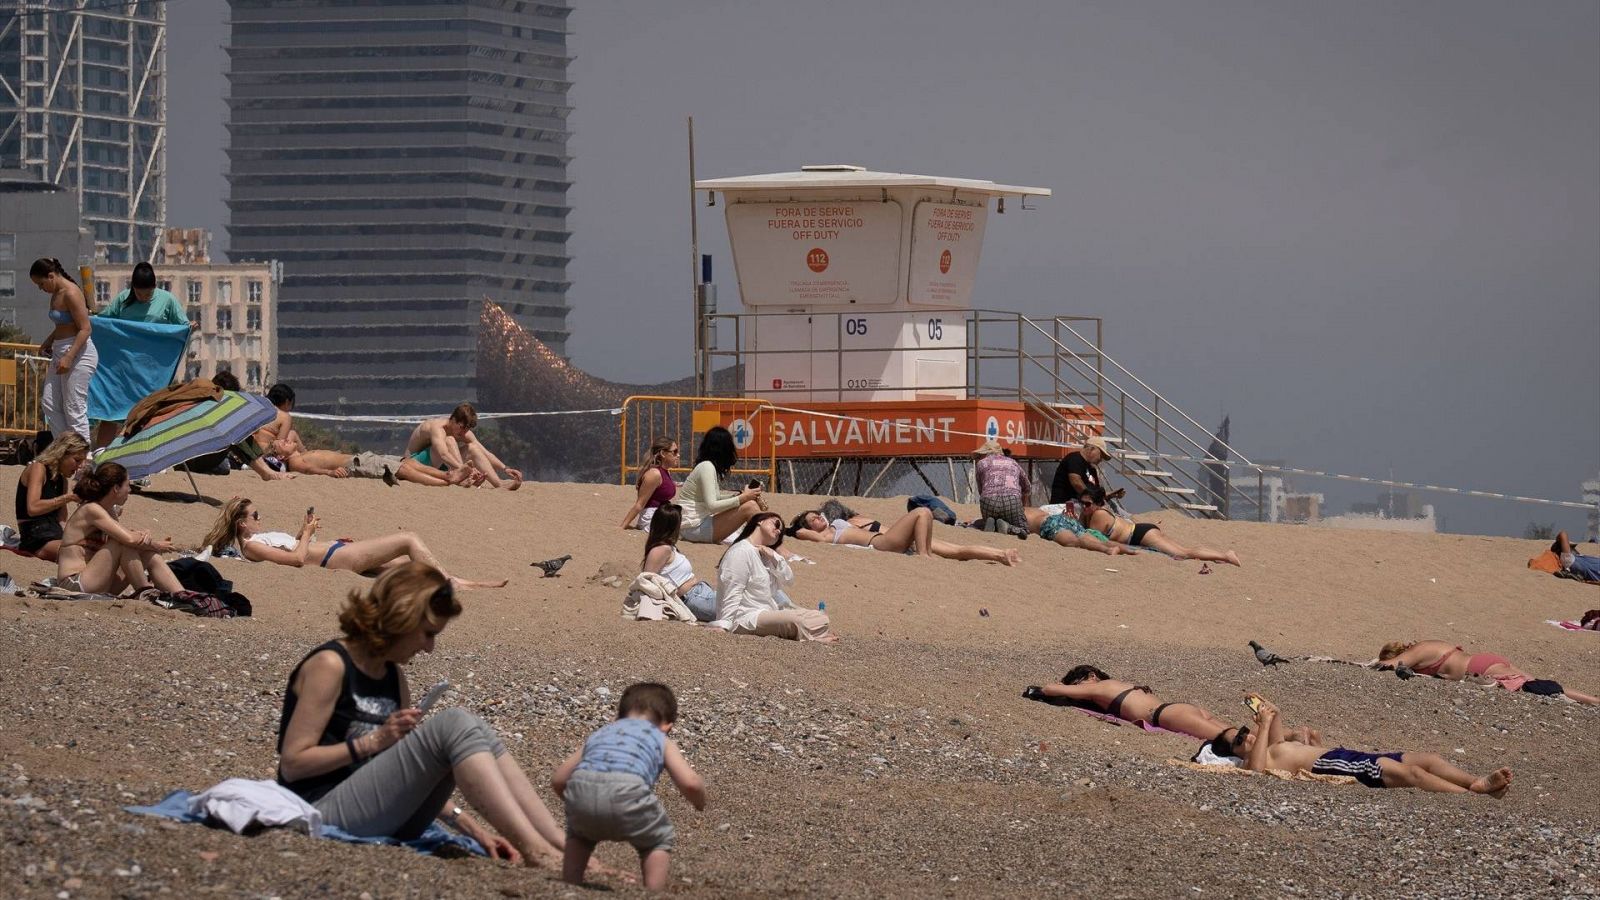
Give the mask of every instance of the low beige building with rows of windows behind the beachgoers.
MULTIPOLYGON (((198 229, 168 229, 163 253, 187 263, 160 263, 157 287, 184 304, 195 327, 179 378, 211 378, 229 370, 246 391, 262 391, 278 378, 275 263, 213 264, 198 229)), ((94 271, 94 307, 128 288, 133 266, 94 271)))

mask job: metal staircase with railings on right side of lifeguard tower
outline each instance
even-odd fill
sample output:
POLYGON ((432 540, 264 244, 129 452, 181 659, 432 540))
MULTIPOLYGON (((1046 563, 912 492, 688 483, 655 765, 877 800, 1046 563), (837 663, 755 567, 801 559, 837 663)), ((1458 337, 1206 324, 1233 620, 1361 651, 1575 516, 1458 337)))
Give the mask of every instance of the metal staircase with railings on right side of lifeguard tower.
MULTIPOLYGON (((1144 380, 1101 349, 1101 320, 1080 315, 1034 319, 974 309, 968 317, 968 383, 973 396, 1018 399, 1054 421, 1075 444, 1099 428, 1114 447, 1117 476, 1157 506, 1206 519, 1258 519, 1256 495, 1206 487, 1213 436, 1144 380), (1083 410, 1099 420, 1083 420, 1083 410), (1066 413, 1075 413, 1077 418, 1066 413)), ((1243 453, 1221 445, 1230 461, 1243 453)))

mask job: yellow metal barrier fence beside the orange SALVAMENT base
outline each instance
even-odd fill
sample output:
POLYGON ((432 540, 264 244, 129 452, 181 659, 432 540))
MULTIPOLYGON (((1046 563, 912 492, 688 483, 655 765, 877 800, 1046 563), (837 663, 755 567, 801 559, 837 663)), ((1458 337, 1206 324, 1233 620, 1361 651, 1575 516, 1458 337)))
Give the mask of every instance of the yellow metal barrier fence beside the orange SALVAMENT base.
MULTIPOLYGON (((722 424, 726 416, 744 420, 757 432, 771 432, 773 404, 768 400, 750 400, 742 397, 653 397, 637 396, 622 400, 621 415, 621 469, 618 484, 629 484, 634 472, 645 464, 650 445, 658 437, 669 437, 678 444, 682 460, 686 464, 669 466, 669 471, 682 474, 693 469, 694 450, 699 447, 699 436, 712 426, 722 424)), ((778 460, 773 440, 765 442, 768 452, 755 458, 739 455, 738 464, 728 472, 738 476, 744 484, 750 477, 762 477, 766 490, 778 490, 778 460)))

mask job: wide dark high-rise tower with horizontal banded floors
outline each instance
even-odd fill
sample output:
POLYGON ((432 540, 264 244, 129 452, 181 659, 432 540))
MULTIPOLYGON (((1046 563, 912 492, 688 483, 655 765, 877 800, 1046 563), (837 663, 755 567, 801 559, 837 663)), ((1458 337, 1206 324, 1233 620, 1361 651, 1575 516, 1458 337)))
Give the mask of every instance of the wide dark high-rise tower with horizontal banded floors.
POLYGON ((475 399, 485 298, 566 331, 562 2, 229 0, 229 258, 280 259, 307 410, 475 399))

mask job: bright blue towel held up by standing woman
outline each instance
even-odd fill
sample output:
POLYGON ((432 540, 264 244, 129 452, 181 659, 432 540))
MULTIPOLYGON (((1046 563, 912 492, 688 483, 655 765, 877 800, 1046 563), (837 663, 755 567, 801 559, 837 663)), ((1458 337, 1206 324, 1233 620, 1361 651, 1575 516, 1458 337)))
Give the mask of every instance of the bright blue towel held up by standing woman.
POLYGON ((96 315, 91 340, 99 365, 90 380, 90 418, 122 421, 134 404, 173 383, 189 327, 96 315))

